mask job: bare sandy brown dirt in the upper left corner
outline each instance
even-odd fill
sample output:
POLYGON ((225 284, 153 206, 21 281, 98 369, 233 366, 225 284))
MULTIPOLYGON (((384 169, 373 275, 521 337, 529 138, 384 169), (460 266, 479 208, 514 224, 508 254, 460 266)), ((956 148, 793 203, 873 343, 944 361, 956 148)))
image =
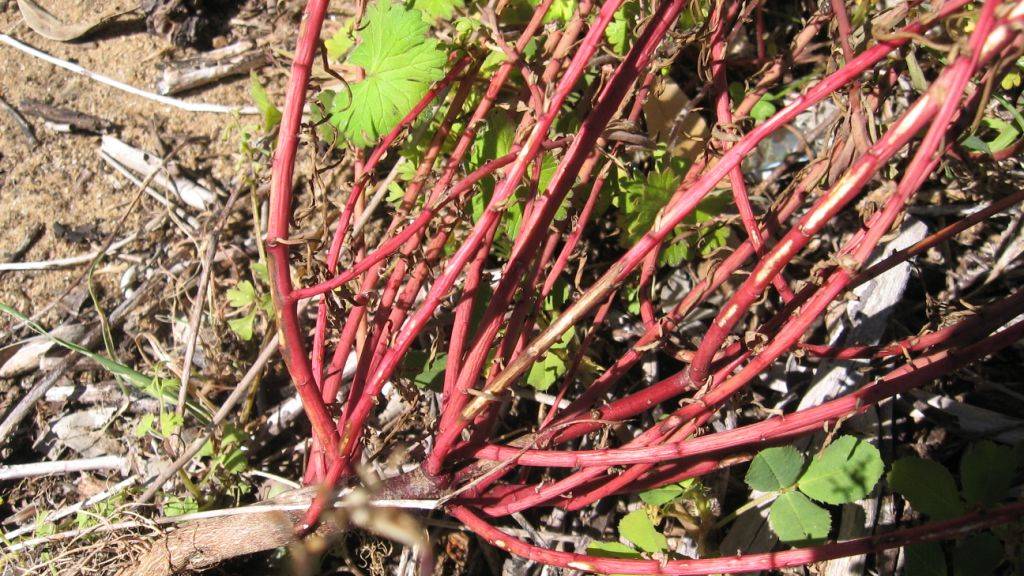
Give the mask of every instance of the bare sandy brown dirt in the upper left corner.
MULTIPOLYGON (((82 22, 115 8, 100 0, 41 2, 65 22, 82 22)), ((130 5, 122 0, 118 6, 130 5)), ((124 16, 82 42, 47 40, 22 23, 14 1, 0 2, 0 30, 49 54, 76 61, 136 87, 154 90, 163 63, 193 55, 176 49, 163 38, 146 34, 138 15, 124 16), (5 8, 2 5, 6 4, 5 8)), ((240 27, 231 27, 238 33, 240 27)), ((241 28, 244 33, 245 28, 241 28)), ((231 39, 224 38, 224 41, 231 39)), ((270 69, 264 70, 264 73, 270 69)), ((229 186, 231 155, 239 140, 230 128, 239 120, 228 114, 194 114, 127 94, 86 77, 51 66, 9 46, 0 45, 0 96, 14 108, 24 98, 73 109, 105 119, 119 128, 115 135, 148 152, 159 152, 158 138, 170 150, 182 140, 197 138, 179 155, 187 170, 209 173, 229 186)), ((196 101, 245 106, 248 81, 236 78, 184 96, 196 101)), ((20 245, 34 227, 43 224, 42 238, 22 258, 46 260, 94 250, 108 235, 121 238, 144 218, 162 209, 144 198, 123 230, 117 222, 135 194, 135 188, 99 158, 99 136, 54 132, 39 118, 26 116, 39 146, 33 149, 11 117, 0 112, 0 254, 20 245), (90 244, 58 238, 53 224, 95 227, 98 240, 90 244)), ((145 256, 144 242, 133 247, 145 256)), ((108 260, 101 277, 113 285, 123 262, 108 260)), ((58 297, 78 283, 85 266, 46 272, 0 273, 0 301, 32 312, 58 297)))

